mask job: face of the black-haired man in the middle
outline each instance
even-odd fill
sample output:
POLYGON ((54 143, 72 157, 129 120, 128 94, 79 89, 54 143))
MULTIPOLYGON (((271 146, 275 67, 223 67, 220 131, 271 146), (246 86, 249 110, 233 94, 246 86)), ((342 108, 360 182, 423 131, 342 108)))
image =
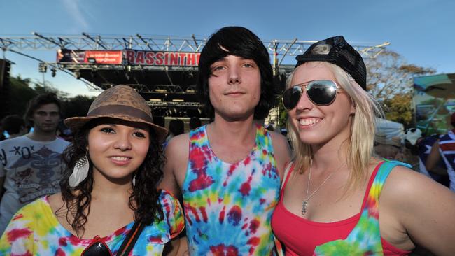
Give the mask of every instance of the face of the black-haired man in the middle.
POLYGON ((209 95, 215 116, 244 120, 260 100, 260 70, 253 59, 228 55, 210 66, 209 95))

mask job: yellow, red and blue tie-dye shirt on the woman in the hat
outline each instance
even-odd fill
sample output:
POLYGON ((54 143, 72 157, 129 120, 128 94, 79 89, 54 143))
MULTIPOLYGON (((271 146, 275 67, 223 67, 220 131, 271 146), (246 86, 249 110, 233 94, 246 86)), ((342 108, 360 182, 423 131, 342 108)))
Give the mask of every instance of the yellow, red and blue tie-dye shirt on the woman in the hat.
MULTIPOLYGON (((184 227, 179 201, 168 192, 160 195, 165 218, 144 227, 130 255, 162 255, 165 243, 184 227)), ((102 238, 116 255, 134 222, 102 238)), ((65 229, 50 208, 48 197, 24 206, 16 213, 0 239, 0 255, 80 255, 94 239, 78 239, 65 229)))

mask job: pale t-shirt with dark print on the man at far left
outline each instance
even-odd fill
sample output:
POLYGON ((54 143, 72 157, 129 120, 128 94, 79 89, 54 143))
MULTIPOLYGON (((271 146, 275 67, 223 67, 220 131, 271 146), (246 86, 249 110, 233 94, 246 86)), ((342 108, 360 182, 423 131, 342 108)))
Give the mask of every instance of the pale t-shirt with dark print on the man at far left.
POLYGON ((0 177, 5 193, 0 203, 0 234, 22 206, 59 192, 62 152, 69 142, 34 141, 27 136, 0 141, 0 177))

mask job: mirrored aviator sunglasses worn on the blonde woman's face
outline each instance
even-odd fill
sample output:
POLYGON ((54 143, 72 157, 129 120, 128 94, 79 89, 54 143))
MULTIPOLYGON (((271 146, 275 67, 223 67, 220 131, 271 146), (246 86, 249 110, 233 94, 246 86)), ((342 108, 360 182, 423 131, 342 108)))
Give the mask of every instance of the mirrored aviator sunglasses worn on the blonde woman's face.
POLYGON ((328 106, 335 101, 338 90, 341 87, 332 80, 314 80, 293 85, 283 92, 283 106, 290 111, 297 106, 305 87, 308 99, 318 106, 328 106))

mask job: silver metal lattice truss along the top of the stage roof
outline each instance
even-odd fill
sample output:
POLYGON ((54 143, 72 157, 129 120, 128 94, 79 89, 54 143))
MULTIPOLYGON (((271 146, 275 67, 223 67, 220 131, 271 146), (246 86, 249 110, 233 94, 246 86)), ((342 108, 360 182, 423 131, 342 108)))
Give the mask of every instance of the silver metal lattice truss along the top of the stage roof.
MULTIPOLYGON (((82 33, 81 36, 43 36, 36 32, 33 36, 0 37, 0 48, 3 50, 158 50, 176 52, 200 52, 207 41, 206 36, 149 36, 136 34, 134 36, 102 36, 99 34, 82 33)), ((272 56, 274 72, 279 69, 284 57, 302 54, 309 45, 316 41, 297 40, 264 40, 264 45, 272 56)), ((376 57, 390 43, 368 43, 353 48, 363 57, 376 57)))

